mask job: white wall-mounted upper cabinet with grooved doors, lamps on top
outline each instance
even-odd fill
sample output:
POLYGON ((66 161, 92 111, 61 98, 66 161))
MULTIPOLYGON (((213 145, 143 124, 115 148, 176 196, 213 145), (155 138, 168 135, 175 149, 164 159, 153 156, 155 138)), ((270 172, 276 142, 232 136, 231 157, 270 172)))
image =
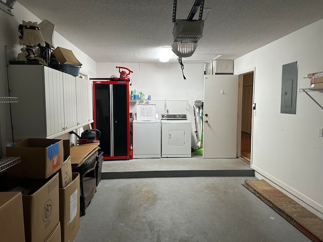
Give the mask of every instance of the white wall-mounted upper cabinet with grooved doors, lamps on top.
POLYGON ((11 105, 14 139, 55 138, 93 122, 79 119, 92 100, 88 90, 78 91, 78 77, 39 65, 10 65, 8 74, 10 95, 19 97, 11 105))

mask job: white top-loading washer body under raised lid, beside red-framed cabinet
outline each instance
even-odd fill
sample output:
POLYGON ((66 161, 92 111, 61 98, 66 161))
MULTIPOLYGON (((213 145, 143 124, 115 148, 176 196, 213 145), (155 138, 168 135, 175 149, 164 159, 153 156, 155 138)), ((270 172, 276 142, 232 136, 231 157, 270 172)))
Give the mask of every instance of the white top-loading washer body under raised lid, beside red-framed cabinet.
POLYGON ((133 158, 160 158, 160 120, 138 121, 132 124, 133 158))

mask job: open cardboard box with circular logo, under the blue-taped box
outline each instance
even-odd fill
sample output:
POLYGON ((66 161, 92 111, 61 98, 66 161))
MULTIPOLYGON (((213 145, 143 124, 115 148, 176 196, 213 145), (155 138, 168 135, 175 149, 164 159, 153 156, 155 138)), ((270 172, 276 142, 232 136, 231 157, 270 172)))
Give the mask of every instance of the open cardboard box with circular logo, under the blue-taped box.
POLYGON ((60 221, 59 174, 47 179, 5 177, 0 189, 22 193, 26 241, 45 241, 60 221))

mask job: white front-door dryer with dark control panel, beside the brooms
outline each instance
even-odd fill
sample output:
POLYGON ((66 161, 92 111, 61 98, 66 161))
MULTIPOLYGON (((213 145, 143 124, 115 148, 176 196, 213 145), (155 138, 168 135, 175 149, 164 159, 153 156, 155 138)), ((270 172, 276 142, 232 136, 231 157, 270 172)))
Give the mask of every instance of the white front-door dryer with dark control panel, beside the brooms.
POLYGON ((191 122, 186 114, 161 114, 161 157, 191 157, 191 122))

